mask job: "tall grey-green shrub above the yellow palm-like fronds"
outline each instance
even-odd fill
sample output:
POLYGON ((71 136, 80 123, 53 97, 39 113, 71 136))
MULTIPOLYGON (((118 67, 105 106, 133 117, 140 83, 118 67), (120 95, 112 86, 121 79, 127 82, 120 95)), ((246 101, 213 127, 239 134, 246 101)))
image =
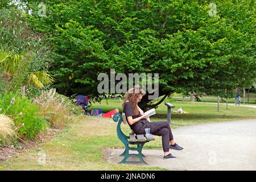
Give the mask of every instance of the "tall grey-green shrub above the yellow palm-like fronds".
MULTIPOLYGON (((2 3, 2 1, 1 1, 2 3)), ((26 22, 23 11, 15 7, 0 10, 0 44, 6 45, 17 52, 33 52, 30 71, 47 70, 53 53, 43 34, 35 34, 26 22)))

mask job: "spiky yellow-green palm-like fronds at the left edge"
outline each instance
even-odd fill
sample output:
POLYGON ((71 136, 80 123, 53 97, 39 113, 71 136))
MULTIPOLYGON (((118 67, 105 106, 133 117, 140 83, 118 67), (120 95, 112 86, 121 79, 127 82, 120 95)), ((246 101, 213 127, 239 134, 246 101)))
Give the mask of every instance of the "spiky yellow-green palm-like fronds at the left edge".
MULTIPOLYGON (((0 47, 0 71, 2 72, 2 77, 8 83, 15 74, 19 65, 22 64, 24 59, 31 59, 30 53, 15 53, 9 47, 0 47)), ((26 61, 27 62, 27 61, 26 61)), ((23 62, 24 63, 24 62, 23 62)), ((37 86, 39 88, 45 85, 52 84, 54 79, 52 75, 49 75, 46 71, 39 72, 27 72, 27 80, 24 80, 27 84, 37 86)), ((20 85, 21 86, 21 85, 20 85)))

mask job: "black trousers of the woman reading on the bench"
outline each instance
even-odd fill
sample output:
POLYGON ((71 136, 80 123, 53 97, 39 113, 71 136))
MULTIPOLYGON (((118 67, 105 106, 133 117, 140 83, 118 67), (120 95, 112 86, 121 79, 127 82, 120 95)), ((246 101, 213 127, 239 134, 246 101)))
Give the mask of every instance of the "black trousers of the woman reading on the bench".
POLYGON ((170 141, 174 139, 169 123, 167 121, 148 122, 143 119, 134 125, 132 129, 135 134, 146 134, 145 129, 150 128, 152 135, 162 136, 163 151, 168 152, 170 149, 170 141))

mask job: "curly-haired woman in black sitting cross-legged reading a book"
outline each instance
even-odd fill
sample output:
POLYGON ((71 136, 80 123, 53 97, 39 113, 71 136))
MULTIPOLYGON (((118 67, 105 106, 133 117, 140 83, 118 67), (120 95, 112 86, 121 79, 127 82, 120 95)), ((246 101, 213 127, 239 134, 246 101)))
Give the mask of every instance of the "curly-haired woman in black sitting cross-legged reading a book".
POLYGON ((172 131, 168 122, 148 122, 147 116, 137 105, 144 96, 144 90, 139 86, 134 86, 125 94, 125 102, 123 102, 123 112, 126 115, 126 120, 135 134, 145 134, 145 129, 150 128, 152 135, 162 136, 162 146, 164 151, 164 159, 176 159, 170 154, 169 150, 183 150, 175 143, 172 131))

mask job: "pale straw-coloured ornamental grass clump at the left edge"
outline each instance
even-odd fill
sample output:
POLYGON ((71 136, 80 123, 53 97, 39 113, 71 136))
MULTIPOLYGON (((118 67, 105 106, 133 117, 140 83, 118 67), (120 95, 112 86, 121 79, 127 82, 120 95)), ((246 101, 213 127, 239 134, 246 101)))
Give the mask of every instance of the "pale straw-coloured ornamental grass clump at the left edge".
POLYGON ((10 144, 15 135, 14 122, 6 115, 0 114, 0 145, 10 144))

